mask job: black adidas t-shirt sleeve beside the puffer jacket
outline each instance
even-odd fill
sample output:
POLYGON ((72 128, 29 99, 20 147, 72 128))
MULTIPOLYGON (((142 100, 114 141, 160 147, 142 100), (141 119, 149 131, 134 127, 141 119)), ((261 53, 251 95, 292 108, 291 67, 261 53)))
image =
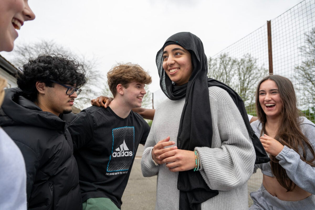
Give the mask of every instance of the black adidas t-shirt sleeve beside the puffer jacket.
POLYGON ((83 110, 77 114, 77 119, 72 122, 68 129, 71 134, 73 149, 78 150, 93 138, 94 121, 91 113, 83 110))

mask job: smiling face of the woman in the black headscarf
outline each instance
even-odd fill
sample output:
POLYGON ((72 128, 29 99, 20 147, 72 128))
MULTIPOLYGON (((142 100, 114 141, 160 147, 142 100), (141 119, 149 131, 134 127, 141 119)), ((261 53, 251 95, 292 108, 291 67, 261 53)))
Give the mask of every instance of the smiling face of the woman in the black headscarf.
POLYGON ((187 83, 193 70, 190 52, 177 44, 166 46, 163 49, 163 69, 176 85, 187 83))

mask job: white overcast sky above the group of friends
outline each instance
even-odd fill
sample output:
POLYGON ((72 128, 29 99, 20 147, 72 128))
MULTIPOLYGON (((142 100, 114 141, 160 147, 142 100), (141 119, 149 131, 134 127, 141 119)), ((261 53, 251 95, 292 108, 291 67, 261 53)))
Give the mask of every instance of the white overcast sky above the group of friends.
POLYGON ((104 82, 117 62, 137 63, 150 72, 149 89, 155 92, 160 88, 155 56, 169 36, 190 31, 203 41, 207 57, 213 56, 300 2, 29 0, 36 19, 21 27, 16 44, 54 40, 77 54, 97 56, 104 82))

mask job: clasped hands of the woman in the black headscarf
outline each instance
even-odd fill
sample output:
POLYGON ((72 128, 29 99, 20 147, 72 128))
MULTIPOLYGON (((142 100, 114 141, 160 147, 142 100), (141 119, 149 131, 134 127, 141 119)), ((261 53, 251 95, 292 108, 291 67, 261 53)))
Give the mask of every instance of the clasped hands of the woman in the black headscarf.
POLYGON ((171 172, 187 171, 195 168, 195 153, 190 150, 180 150, 170 137, 163 139, 153 147, 152 158, 157 164, 164 164, 171 172), (174 146, 172 146, 174 145, 174 146), (170 147, 168 147, 170 146, 170 147))

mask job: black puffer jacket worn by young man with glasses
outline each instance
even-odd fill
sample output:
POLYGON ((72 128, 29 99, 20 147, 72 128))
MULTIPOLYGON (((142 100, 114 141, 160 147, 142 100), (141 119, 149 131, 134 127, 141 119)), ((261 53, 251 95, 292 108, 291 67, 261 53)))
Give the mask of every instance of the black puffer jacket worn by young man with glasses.
MULTIPOLYGON (((67 126, 70 121, 42 111, 9 88, 0 109, 0 125, 25 159, 29 209, 82 209, 77 162, 67 126)), ((64 118, 62 117, 62 118, 64 118)))

